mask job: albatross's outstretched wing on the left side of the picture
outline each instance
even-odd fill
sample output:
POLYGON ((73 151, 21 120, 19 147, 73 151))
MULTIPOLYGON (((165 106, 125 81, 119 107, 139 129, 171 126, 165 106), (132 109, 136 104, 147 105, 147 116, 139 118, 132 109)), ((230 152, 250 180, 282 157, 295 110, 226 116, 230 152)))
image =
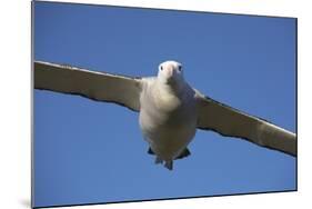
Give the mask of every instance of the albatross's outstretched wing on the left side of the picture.
POLYGON ((34 61, 34 88, 78 94, 140 110, 142 79, 34 61))

